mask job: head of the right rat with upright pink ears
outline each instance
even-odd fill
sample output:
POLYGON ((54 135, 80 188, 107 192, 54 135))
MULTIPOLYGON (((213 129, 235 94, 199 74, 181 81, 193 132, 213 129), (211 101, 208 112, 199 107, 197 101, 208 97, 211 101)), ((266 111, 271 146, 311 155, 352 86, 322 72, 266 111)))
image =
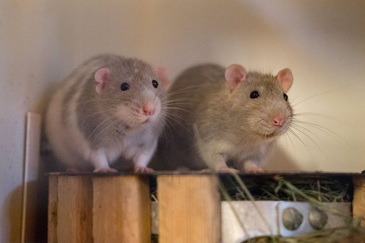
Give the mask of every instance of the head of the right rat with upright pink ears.
POLYGON ((288 130, 293 114, 286 94, 293 84, 290 69, 273 76, 246 72, 233 64, 227 67, 225 77, 235 128, 250 134, 252 140, 272 140, 288 130))

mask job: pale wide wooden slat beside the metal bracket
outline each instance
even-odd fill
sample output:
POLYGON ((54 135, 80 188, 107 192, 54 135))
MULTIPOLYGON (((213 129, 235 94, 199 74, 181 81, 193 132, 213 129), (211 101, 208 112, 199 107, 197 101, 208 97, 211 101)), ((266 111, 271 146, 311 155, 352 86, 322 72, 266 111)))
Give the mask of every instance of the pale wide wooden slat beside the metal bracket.
POLYGON ((220 197, 216 175, 159 175, 160 243, 219 243, 220 197))

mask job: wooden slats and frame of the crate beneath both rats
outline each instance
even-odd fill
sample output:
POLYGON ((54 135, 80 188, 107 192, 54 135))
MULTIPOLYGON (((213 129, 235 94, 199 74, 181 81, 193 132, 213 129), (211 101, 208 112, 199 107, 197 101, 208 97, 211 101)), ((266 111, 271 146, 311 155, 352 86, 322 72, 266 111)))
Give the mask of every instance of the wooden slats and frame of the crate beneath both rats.
MULTIPOLYGON (((159 242, 221 242, 217 175, 176 172, 156 175, 159 242)), ((273 175, 275 173, 254 176, 273 175)), ((336 175, 353 178, 353 214, 365 217, 365 175, 336 175)), ((146 174, 51 173, 48 242, 150 243, 149 177, 146 174)), ((364 220, 362 225, 365 226, 364 220)))

